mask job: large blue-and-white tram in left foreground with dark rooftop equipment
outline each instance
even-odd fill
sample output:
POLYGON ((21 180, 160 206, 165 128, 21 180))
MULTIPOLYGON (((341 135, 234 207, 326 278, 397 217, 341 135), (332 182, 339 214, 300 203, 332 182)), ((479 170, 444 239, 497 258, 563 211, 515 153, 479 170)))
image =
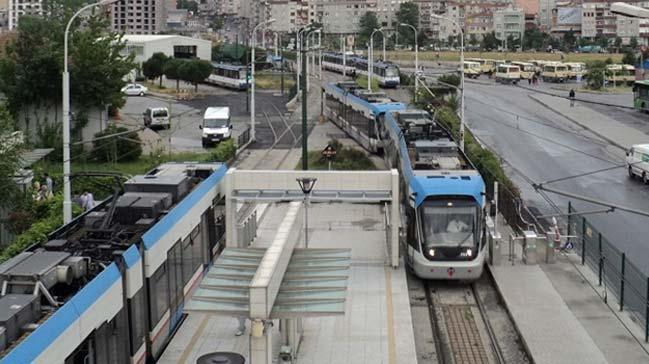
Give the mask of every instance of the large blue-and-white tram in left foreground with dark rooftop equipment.
POLYGON ((29 310, 14 310, 19 325, 3 341, 0 363, 155 362, 222 247, 226 171, 219 163, 163 164, 1 264, 0 306, 29 310), (16 272, 32 269, 54 278, 26 295, 16 272))

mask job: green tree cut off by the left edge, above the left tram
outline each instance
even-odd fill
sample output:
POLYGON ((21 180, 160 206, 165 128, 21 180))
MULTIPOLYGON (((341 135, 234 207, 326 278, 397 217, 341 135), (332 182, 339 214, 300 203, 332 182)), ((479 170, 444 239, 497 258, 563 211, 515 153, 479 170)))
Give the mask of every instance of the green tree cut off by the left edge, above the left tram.
POLYGON ((0 208, 13 207, 19 197, 14 176, 21 167, 23 149, 22 133, 15 130, 13 119, 5 106, 0 106, 0 208))

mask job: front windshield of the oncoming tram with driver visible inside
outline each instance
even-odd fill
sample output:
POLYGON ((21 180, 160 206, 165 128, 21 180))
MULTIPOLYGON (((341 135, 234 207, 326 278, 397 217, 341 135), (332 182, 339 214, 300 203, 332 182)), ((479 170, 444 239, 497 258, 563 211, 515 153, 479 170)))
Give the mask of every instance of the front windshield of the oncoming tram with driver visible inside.
POLYGON ((478 208, 469 201, 424 201, 425 247, 471 247, 478 236, 478 208))

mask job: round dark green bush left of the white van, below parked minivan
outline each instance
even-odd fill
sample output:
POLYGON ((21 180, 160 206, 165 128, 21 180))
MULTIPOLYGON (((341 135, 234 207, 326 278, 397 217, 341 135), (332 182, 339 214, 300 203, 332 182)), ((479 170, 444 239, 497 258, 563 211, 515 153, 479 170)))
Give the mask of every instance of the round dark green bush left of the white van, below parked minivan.
MULTIPOLYGON (((95 139, 127 131, 127 128, 110 125, 104 131, 95 134, 95 139)), ((92 156, 99 162, 128 162, 142 155, 142 142, 135 131, 95 140, 92 146, 92 156)))

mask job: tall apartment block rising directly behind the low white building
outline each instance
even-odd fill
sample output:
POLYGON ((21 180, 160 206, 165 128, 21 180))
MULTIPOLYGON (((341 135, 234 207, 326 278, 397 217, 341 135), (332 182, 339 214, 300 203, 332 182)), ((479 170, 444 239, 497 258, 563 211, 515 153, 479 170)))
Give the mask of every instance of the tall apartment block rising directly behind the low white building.
POLYGON ((128 34, 156 34, 166 29, 165 0, 123 0, 112 5, 113 31, 128 34))

